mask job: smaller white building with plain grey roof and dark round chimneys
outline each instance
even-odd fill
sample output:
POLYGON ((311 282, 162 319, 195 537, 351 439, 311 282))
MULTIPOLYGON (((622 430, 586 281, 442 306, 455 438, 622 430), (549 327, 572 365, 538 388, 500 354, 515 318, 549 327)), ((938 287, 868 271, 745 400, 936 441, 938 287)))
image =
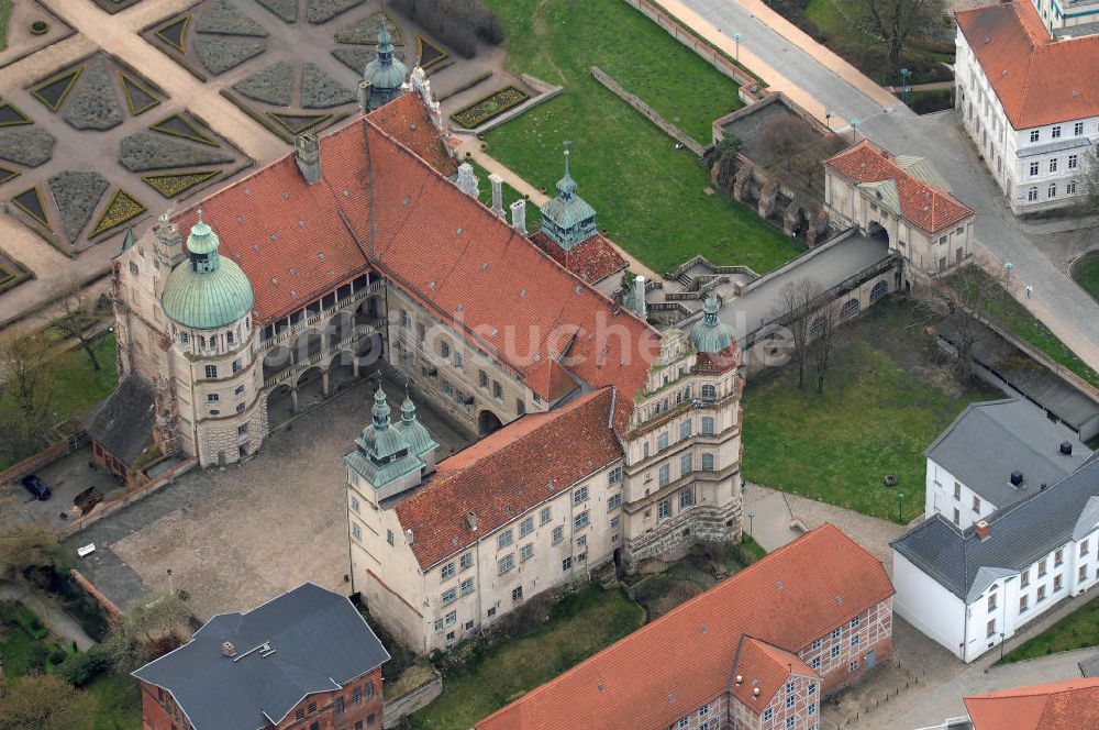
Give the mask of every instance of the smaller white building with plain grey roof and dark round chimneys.
POLYGON ((1091 455, 1066 425, 1029 400, 973 403, 924 452, 924 517, 965 530, 1075 472, 1091 455))

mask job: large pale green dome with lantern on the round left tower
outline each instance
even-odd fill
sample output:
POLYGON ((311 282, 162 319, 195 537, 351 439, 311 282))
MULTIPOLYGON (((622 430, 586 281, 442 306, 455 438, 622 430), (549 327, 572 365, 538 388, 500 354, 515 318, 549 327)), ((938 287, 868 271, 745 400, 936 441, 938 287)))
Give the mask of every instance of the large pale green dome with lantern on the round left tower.
POLYGON ((218 234, 202 221, 187 236, 189 259, 168 275, 160 306, 173 322, 196 330, 227 327, 252 311, 255 294, 236 262, 222 258, 218 234))

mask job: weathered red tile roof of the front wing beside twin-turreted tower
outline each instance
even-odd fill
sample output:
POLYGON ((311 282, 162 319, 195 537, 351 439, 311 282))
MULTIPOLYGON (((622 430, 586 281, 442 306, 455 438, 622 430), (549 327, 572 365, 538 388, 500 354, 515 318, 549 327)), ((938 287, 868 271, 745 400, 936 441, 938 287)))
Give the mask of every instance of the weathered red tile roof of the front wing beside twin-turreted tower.
POLYGON ((428 486, 395 508, 428 569, 478 538, 622 457, 610 428, 611 388, 546 413, 529 413, 439 465, 428 486), (552 485, 552 489, 547 486, 552 485), (477 518, 470 529, 466 513, 477 518))

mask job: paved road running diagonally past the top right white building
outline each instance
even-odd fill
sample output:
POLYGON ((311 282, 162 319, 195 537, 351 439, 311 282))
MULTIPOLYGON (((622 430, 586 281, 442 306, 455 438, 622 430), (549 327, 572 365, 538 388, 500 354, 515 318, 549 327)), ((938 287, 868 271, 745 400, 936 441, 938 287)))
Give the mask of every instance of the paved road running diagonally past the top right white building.
MULTIPOLYGON (((723 47, 741 33, 740 46, 784 80, 797 85, 836 117, 858 119, 858 133, 895 152, 928 157, 963 202, 978 212, 977 240, 1000 262, 1014 266, 1017 285, 1034 287, 1023 303, 1092 367, 1099 368, 1099 305, 1035 246, 962 131, 956 112, 919 117, 903 104, 882 102, 868 79, 804 33, 758 7, 757 0, 681 0, 692 13, 682 20, 712 36, 718 29, 723 47), (695 15, 697 13, 697 15, 695 15), (691 22, 691 15, 703 22, 691 22), (791 30, 792 29, 792 30, 791 30)), ((711 40, 713 40, 711 37, 711 40)), ((758 69, 757 69, 758 70, 758 69)), ((763 73, 766 78, 766 73, 763 73)), ((819 114, 819 109, 810 111, 819 114)), ((835 118, 833 118, 834 121, 835 118)))

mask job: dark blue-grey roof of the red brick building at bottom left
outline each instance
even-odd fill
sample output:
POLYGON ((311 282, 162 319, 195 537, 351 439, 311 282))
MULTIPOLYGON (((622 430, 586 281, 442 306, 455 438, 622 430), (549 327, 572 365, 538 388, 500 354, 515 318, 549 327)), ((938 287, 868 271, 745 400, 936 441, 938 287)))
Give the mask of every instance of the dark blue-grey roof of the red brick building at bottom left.
POLYGON ((388 659, 346 597, 307 583, 247 613, 213 617, 133 674, 171 693, 196 730, 258 730, 388 659), (222 655, 225 641, 233 659, 222 655), (248 653, 265 643, 270 652, 248 653))

